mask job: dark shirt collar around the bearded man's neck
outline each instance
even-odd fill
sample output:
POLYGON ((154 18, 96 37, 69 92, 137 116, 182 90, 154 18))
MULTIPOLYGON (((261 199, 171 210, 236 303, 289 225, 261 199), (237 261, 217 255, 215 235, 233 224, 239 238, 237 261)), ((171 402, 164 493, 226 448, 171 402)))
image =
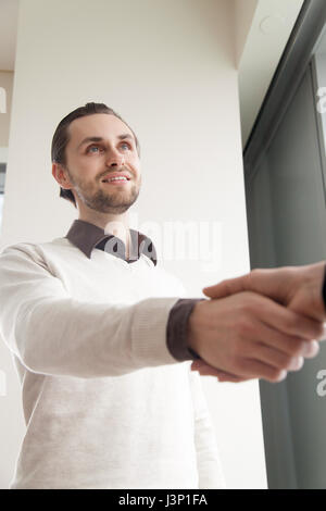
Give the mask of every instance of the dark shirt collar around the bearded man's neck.
POLYGON ((156 250, 152 240, 138 230, 129 229, 129 232, 131 238, 129 259, 125 258, 125 244, 122 239, 113 234, 104 233, 101 227, 84 220, 75 220, 65 238, 82 250, 88 259, 90 259, 92 250, 97 248, 128 263, 138 261, 140 254, 143 253, 156 265, 156 250))

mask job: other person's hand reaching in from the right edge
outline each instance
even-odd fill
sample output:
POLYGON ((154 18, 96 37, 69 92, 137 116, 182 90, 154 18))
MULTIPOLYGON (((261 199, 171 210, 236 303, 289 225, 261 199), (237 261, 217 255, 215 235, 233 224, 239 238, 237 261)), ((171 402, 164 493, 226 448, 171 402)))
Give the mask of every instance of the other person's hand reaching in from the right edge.
MULTIPOLYGON (((243 291, 254 291, 272 298, 297 314, 303 314, 318 322, 326 320, 322 294, 325 262, 304 266, 284 266, 276 270, 253 270, 241 277, 223 281, 217 285, 203 288, 210 298, 225 298, 243 291)), ((300 334, 300 332, 299 332, 300 334)), ((315 338, 322 338, 324 333, 315 338)), ((313 344, 311 344, 313 347, 313 344)), ((317 350, 306 351, 305 358, 315 357, 317 350)), ((197 360, 191 369, 201 375, 217 376, 222 382, 243 382, 249 379, 240 373, 230 373, 213 367, 204 360, 197 360)))

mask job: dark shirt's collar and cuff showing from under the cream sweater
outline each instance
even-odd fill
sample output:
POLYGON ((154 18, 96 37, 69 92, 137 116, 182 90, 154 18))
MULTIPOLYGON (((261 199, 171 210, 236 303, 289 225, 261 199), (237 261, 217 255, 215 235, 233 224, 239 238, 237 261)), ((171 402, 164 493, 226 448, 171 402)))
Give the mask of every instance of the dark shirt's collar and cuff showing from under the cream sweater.
MULTIPOLYGON (((138 230, 129 229, 129 233, 131 239, 129 259, 126 259, 126 247, 122 239, 104 233, 104 229, 84 220, 75 220, 65 238, 82 250, 88 259, 91 259, 93 249, 99 249, 128 263, 138 261, 140 254, 145 254, 156 265, 156 250, 152 240, 138 230)), ((180 298, 170 311, 166 345, 171 354, 179 362, 199 359, 199 356, 187 346, 187 327, 195 304, 202 300, 204 298, 180 298)))

